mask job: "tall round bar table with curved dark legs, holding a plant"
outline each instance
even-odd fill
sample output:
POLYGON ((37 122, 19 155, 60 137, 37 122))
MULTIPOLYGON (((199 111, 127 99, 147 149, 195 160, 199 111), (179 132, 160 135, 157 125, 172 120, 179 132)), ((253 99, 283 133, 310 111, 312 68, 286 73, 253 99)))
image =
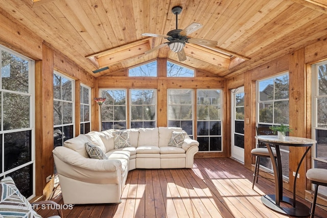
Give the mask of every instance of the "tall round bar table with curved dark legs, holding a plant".
MULTIPOLYGON (((256 139, 266 144, 271 162, 272 168, 274 171, 274 180, 275 180, 275 195, 265 195, 261 197, 262 203, 268 208, 283 213, 286 215, 292 216, 309 216, 310 208, 305 204, 296 201, 295 199, 295 186, 297 174, 300 168, 300 165, 303 159, 306 157, 309 152, 311 146, 315 144, 317 141, 310 138, 301 138, 301 137, 293 137, 293 136, 285 136, 285 139, 279 139, 276 135, 258 135, 255 136, 256 139), (292 147, 308 147, 306 152, 303 154, 300 162, 298 163, 294 185, 293 185, 293 199, 283 196, 283 171, 282 171, 282 161, 281 161, 281 152, 279 151, 279 146, 292 146, 292 147), (274 147, 276 150, 276 160, 273 156, 271 147, 274 147), (281 202, 285 202, 291 207, 281 206, 281 202)), ((302 175, 305 176, 305 175, 302 175)))

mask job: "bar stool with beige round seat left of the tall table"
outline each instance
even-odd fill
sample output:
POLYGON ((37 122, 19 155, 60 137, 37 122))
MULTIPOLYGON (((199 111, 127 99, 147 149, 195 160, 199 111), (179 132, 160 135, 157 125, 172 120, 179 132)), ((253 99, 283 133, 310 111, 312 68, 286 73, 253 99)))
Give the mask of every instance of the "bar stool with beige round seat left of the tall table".
MULTIPOLYGON (((257 127, 256 128, 256 134, 257 135, 275 135, 272 130, 269 129, 269 127, 257 127)), ((274 157, 276 158, 276 151, 272 150, 274 157)), ((253 181, 252 181, 252 189, 254 188, 254 183, 256 180, 256 183, 258 183, 258 177, 259 177, 259 169, 260 169, 260 158, 261 157, 270 157, 269 151, 265 144, 259 143, 259 148, 255 148, 251 150, 251 154, 255 155, 255 167, 254 167, 254 173, 253 173, 253 181)))

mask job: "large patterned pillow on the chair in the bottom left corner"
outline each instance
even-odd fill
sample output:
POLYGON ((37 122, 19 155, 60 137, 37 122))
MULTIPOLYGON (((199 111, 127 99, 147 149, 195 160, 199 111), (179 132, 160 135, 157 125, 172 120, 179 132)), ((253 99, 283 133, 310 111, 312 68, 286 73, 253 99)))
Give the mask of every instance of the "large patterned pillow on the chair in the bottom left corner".
POLYGON ((11 177, 2 179, 0 183, 0 217, 42 217, 21 195, 11 177))

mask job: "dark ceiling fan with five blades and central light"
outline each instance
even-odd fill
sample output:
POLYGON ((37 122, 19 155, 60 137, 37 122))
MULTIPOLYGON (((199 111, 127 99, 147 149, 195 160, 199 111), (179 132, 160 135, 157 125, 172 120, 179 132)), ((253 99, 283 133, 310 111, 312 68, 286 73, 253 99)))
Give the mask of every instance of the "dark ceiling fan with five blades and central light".
POLYGON ((153 47, 149 51, 145 52, 145 54, 149 54, 157 49, 160 49, 161 47, 164 47, 165 45, 168 45, 169 48, 177 53, 178 60, 184 61, 186 60, 186 55, 184 52, 184 46, 185 43, 193 43, 193 44, 199 44, 199 45, 206 45, 210 47, 215 47, 218 42, 212 41, 212 40, 206 40, 206 39, 197 39, 197 38, 190 38, 188 35, 191 33, 197 31, 198 29, 202 28, 202 25, 197 22, 191 23, 188 27, 186 27, 183 30, 178 29, 178 14, 182 11, 182 8, 180 6, 175 6, 172 8, 173 14, 176 15, 176 30, 171 30, 167 33, 167 35, 160 35, 160 34, 154 34, 154 33, 143 33, 142 36, 151 36, 151 37, 162 37, 168 40, 168 42, 162 43, 158 46, 153 47))

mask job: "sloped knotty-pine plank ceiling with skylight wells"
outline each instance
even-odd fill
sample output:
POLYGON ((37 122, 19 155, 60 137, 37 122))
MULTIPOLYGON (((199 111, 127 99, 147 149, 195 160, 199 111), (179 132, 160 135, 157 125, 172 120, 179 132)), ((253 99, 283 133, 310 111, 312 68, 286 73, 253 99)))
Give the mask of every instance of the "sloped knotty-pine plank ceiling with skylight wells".
MULTIPOLYGON (((3 1, 3 0, 1 0, 3 1)), ((95 77, 157 58, 178 61, 166 35, 203 27, 192 38, 215 40, 214 50, 186 43, 182 64, 229 78, 327 37, 326 0, 7 0, 0 8, 95 77), (92 71, 108 66, 94 74, 92 71)))

